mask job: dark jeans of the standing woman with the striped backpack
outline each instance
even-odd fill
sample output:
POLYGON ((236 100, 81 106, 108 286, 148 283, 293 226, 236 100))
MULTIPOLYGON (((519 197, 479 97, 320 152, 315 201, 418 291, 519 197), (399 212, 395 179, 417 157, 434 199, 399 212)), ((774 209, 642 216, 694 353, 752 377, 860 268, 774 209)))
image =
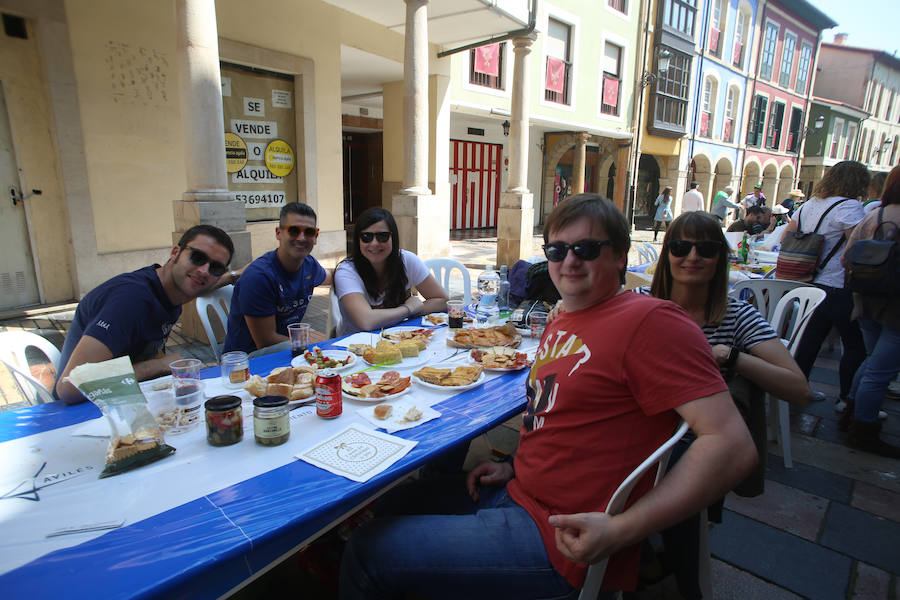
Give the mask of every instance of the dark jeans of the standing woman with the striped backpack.
POLYGON ((863 345, 862 334, 859 332, 859 324, 850 320, 850 313, 853 312, 853 294, 843 288, 833 288, 827 285, 818 285, 817 287, 825 290, 825 300, 810 317, 809 325, 803 332, 803 338, 797 346, 797 355, 794 358, 797 365, 800 366, 800 370, 809 379, 809 373, 812 371, 813 363, 816 362, 822 342, 825 341, 831 327, 836 327, 844 347, 838 368, 841 398, 847 398, 850 394, 853 376, 866 358, 866 349, 863 345))

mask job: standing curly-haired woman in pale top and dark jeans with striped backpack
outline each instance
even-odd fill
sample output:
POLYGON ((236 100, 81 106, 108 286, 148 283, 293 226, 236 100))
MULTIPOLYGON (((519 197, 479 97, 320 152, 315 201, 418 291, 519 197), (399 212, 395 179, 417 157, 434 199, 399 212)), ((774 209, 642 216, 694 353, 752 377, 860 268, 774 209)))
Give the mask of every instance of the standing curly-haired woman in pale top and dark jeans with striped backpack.
POLYGON ((853 383, 853 375, 866 357, 862 333, 859 323, 851 320, 853 312, 853 296, 844 289, 844 267, 841 264, 841 252, 847 238, 857 223, 863 220, 865 213, 858 198, 866 193, 869 186, 869 171, 862 163, 845 160, 837 163, 825 177, 816 184, 812 197, 794 212, 794 216, 785 228, 785 235, 801 228, 801 233, 815 230, 825 211, 837 202, 819 226, 818 233, 825 236, 819 268, 813 284, 825 290, 825 300, 816 308, 800 344, 797 347, 797 364, 803 374, 809 378, 813 363, 822 347, 822 342, 832 327, 836 327, 841 336, 844 352, 838 369, 840 375, 840 398, 838 404, 846 402, 853 383), (833 250, 837 250, 833 252, 833 250), (824 265, 822 262, 831 255, 824 265))

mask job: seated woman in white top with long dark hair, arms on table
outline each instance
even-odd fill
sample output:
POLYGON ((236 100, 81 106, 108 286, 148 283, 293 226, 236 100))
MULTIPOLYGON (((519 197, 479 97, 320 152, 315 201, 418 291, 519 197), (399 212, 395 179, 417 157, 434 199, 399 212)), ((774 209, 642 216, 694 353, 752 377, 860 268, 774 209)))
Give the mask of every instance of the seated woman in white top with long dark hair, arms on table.
POLYGON ((371 331, 447 308, 447 292, 412 252, 398 244, 394 216, 369 208, 356 222, 352 254, 334 271, 341 306, 338 335, 371 331), (412 286, 425 300, 410 292, 412 286))

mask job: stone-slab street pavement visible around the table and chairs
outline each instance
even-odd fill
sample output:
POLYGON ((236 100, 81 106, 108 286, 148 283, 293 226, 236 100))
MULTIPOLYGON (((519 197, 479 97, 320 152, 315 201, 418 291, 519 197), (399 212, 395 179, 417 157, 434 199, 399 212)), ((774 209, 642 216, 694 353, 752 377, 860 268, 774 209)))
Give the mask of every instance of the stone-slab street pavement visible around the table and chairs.
MULTIPOLYGON (((453 258, 464 263, 474 285, 485 265, 496 260, 492 230, 454 234, 453 258)), ((652 231, 637 231, 635 242, 652 242, 652 231)), ((535 236, 534 255, 542 240, 535 236)), ((659 249, 660 244, 653 244, 659 249)), ((643 262, 633 249, 629 264, 643 262)), ((451 286, 451 294, 461 293, 451 286)), ((0 321, 0 330, 25 329, 62 345, 74 306, 57 307, 0 321)), ((328 295, 313 297, 307 320, 325 330, 328 295)), ((176 327, 168 348, 211 361, 208 344, 186 338, 176 327)), ((729 495, 723 522, 710 534, 714 597, 719 599, 829 598, 896 599, 900 576, 900 478, 898 463, 850 450, 837 429, 833 408, 837 395, 840 345, 823 349, 811 375, 811 387, 829 400, 805 409, 792 409, 791 448, 794 468, 785 469, 780 448, 769 446, 766 492, 756 498, 729 495)), ((7 382, 8 383, 8 382, 7 382)), ((0 376, 0 392, 4 380, 0 376)), ((0 410, 5 397, 0 397, 0 410)), ((883 437, 900 444, 900 405, 896 396, 885 401, 888 413, 883 437)), ((468 462, 490 453, 506 452, 518 441, 518 418, 511 419, 475 440, 468 462)), ((236 597, 263 598, 284 586, 310 583, 296 559, 288 559, 248 586, 236 597)), ((314 581, 312 583, 315 583, 314 581)), ((310 588, 312 589, 312 588, 310 588)), ((331 597, 320 590, 315 597, 331 597)), ((637 594, 641 599, 679 598, 673 578, 637 594)))

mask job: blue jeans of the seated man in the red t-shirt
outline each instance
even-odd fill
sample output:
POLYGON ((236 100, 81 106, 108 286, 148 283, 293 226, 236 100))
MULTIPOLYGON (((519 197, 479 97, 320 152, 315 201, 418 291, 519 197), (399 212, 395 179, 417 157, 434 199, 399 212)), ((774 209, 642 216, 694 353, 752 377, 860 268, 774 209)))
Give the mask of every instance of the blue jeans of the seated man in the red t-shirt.
POLYGON ((379 516, 354 532, 341 560, 342 599, 577 595, 550 564, 534 520, 505 487, 482 488, 477 503, 461 478, 400 486, 387 496, 377 514, 440 514, 379 516))

